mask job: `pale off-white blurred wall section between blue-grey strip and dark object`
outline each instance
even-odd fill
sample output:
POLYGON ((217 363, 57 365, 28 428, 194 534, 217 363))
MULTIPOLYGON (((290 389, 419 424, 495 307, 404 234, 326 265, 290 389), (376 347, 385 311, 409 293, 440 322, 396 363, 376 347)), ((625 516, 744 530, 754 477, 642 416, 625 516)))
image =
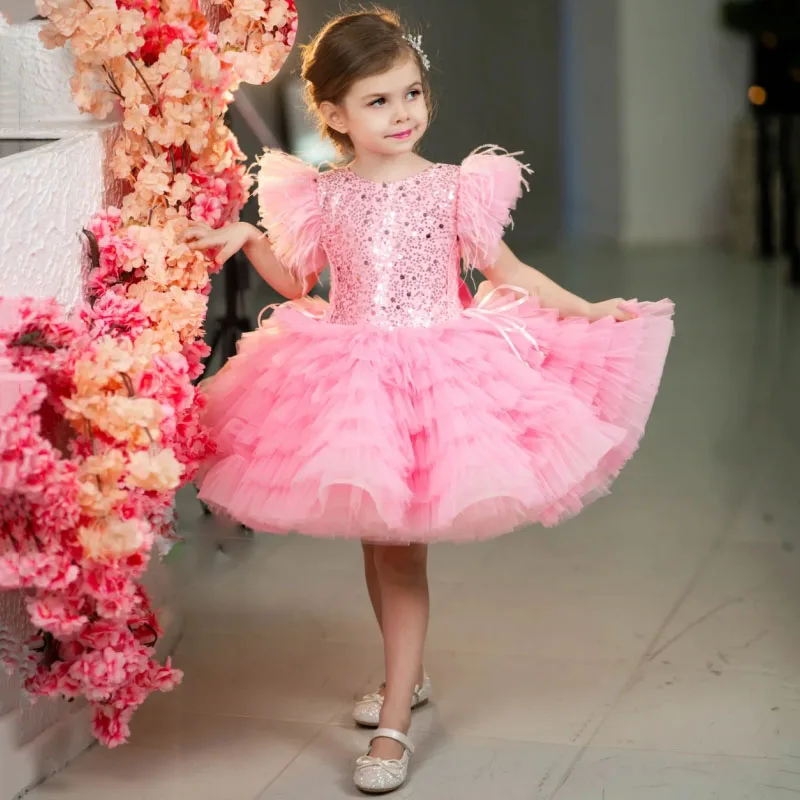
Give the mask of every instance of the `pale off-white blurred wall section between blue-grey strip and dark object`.
POLYGON ((626 242, 724 231, 734 125, 746 112, 746 42, 719 0, 620 0, 626 242))

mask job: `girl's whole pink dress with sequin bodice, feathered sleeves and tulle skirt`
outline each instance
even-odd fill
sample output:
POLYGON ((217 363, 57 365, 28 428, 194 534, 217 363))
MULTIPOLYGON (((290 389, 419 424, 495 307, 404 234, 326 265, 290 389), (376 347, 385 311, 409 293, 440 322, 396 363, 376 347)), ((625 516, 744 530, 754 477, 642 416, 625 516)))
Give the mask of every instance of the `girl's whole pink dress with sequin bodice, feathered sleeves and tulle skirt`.
POLYGON ((262 222, 330 304, 281 306, 204 389, 217 453, 199 496, 262 531, 467 541, 554 525, 605 493, 644 432, 672 303, 559 320, 496 292, 465 309, 524 185, 493 150, 379 184, 260 162, 262 222))

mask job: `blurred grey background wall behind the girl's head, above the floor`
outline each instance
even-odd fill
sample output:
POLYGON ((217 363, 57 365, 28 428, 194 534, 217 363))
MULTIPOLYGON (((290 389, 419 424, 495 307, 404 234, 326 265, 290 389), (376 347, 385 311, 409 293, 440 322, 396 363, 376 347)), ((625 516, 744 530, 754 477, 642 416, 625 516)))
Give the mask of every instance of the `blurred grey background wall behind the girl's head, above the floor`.
MULTIPOLYGON (((751 48, 723 26, 719 0, 392 7, 422 33, 432 62, 438 108, 425 155, 457 162, 491 142, 523 150, 533 166, 518 247, 730 238, 734 175, 748 166, 735 156, 747 135, 751 48)), ((340 8, 304 0, 299 41, 340 8)), ((284 146, 330 157, 303 119, 297 65, 295 52, 277 81, 242 93, 284 146)), ((246 125, 237 132, 248 152, 259 148, 246 125)))

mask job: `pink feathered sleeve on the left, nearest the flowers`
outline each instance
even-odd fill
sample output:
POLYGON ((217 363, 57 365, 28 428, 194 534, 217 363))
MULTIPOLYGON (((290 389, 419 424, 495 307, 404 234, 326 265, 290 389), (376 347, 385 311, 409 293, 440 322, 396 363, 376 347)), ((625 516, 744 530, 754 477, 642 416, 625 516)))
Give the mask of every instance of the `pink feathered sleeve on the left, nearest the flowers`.
POLYGON ((258 159, 258 208, 275 255, 297 277, 321 272, 322 210, 317 197, 319 172, 280 150, 258 159))

